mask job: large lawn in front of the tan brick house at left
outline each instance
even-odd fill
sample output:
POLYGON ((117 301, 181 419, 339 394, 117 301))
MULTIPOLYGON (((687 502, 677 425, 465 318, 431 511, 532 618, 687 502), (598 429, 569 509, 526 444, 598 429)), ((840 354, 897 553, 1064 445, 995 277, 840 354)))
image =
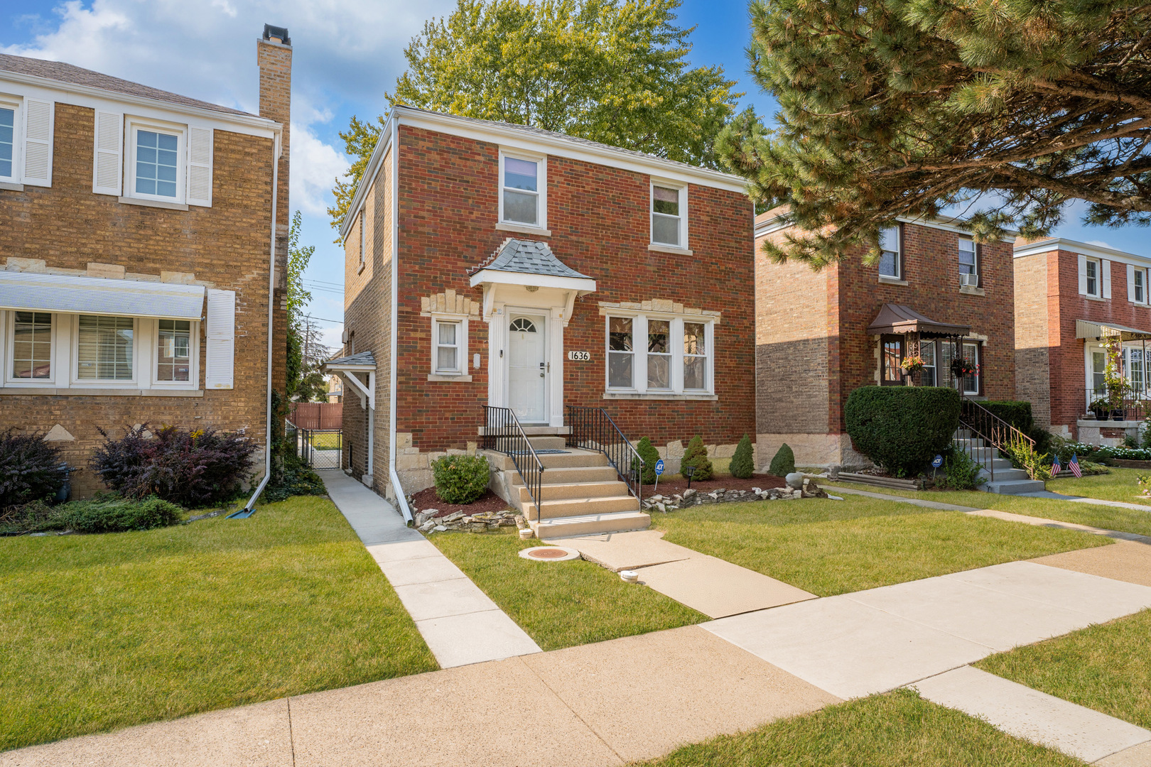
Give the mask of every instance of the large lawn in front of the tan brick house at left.
POLYGON ((0 538, 0 750, 435 669, 326 498, 0 538))

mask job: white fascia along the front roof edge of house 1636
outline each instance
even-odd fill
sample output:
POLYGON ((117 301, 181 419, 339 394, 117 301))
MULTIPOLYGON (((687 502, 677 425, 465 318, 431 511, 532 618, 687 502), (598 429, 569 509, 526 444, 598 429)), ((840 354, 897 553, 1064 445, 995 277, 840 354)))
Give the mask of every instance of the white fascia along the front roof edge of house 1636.
POLYGON ((503 147, 516 147, 539 154, 631 170, 674 183, 710 186, 740 194, 747 190, 747 181, 740 176, 708 168, 695 168, 683 162, 661 160, 655 156, 637 156, 616 147, 587 144, 563 136, 538 135, 514 128, 502 129, 496 125, 473 123, 452 115, 405 109, 404 107, 395 107, 392 116, 399 121, 401 125, 412 125, 413 128, 463 136, 479 141, 489 141, 503 147))

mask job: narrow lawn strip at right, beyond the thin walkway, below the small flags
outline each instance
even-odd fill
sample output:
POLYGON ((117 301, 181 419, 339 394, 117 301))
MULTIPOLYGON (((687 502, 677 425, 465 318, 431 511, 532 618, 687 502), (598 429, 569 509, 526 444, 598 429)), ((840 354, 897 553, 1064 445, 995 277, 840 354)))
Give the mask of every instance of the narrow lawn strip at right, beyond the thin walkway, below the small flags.
MULTIPOLYGON (((1108 475, 1100 475, 1098 477, 1092 477, 1092 480, 1106 480, 1107 476, 1108 475)), ((1078 480, 1073 480, 1072 482, 1078 482, 1078 480)), ((1119 508, 1116 506, 1076 504, 1069 500, 1059 500, 1054 498, 1020 498, 1019 496, 999 496, 992 492, 982 492, 978 490, 927 490, 916 492, 914 490, 889 490, 887 488, 876 488, 854 482, 830 483, 821 481, 820 483, 820 486, 831 492, 834 492, 831 489, 837 485, 854 488, 856 490, 866 490, 868 492, 884 493, 886 496, 922 498, 923 500, 935 500, 942 504, 955 504, 958 506, 970 506, 974 508, 994 508, 1000 512, 1012 512, 1013 514, 1023 514, 1026 516, 1042 516, 1049 520, 1059 520, 1060 522, 1075 522, 1077 524, 1089 524, 1091 527, 1104 528, 1106 530, 1121 530, 1123 532, 1135 532, 1138 535, 1151 536, 1151 511, 1138 512, 1129 508, 1119 508)), ((1047 488, 1055 491, 1053 484, 1050 482, 1047 483, 1047 488)), ((1084 494, 1081 492, 1072 493, 1072 488, 1069 486, 1060 486, 1055 492, 1084 494)))

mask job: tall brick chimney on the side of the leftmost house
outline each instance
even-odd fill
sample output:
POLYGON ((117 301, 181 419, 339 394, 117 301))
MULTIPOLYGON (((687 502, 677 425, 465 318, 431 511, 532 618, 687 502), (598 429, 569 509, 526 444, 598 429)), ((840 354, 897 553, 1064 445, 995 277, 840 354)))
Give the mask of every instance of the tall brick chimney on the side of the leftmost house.
MULTIPOLYGON (((256 41, 256 62, 260 67, 260 116, 283 125, 280 177, 276 189, 276 289, 273 333, 287 343, 288 338, 288 222, 291 221, 288 200, 288 158, 291 144, 291 38, 283 26, 264 25, 264 36, 256 41)), ((284 391, 287 368, 284 354, 273 356, 272 379, 276 391, 284 391)))

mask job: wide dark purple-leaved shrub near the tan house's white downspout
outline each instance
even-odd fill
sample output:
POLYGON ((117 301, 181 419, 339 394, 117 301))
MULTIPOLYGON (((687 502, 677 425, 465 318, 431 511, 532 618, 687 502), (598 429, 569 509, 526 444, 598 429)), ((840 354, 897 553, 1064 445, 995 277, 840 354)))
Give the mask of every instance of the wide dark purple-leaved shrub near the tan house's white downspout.
POLYGON ((181 506, 230 500, 239 492, 257 445, 226 431, 163 427, 148 436, 147 424, 113 439, 102 429, 104 444, 91 467, 112 490, 125 498, 157 496, 181 506))

